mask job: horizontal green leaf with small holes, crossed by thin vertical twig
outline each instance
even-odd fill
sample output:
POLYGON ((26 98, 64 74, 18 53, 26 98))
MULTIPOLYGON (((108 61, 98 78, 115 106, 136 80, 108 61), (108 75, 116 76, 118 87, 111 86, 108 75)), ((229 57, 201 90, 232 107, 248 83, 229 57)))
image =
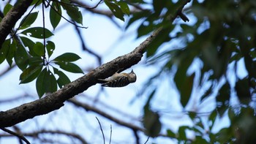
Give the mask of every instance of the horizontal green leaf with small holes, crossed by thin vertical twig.
POLYGON ((44 39, 53 36, 53 33, 48 29, 45 29, 45 37, 44 37, 44 29, 42 27, 34 27, 29 28, 21 32, 21 34, 29 35, 30 37, 35 37, 37 39, 44 39))

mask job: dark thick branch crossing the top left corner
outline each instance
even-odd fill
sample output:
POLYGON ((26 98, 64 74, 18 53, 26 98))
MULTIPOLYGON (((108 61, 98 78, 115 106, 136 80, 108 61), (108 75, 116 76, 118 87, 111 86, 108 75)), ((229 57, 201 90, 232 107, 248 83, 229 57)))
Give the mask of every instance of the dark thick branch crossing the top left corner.
POLYGON ((21 18, 22 15, 29 8, 33 0, 20 0, 12 7, 10 12, 5 15, 0 23, 0 49, 4 40, 7 38, 10 31, 15 26, 15 23, 21 18))

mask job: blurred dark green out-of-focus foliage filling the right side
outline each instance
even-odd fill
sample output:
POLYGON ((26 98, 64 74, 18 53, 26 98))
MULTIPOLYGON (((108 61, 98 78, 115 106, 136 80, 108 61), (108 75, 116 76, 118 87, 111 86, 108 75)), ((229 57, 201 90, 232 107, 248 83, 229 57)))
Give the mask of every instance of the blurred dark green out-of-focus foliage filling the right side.
MULTIPOLYGON (((233 141, 245 142, 255 141, 254 133, 246 138, 246 129, 239 120, 241 127, 233 124, 234 119, 244 118, 244 113, 253 111, 250 107, 252 98, 255 96, 255 7, 256 3, 253 0, 247 1, 192 1, 191 6, 185 7, 184 12, 191 18, 195 18, 195 23, 187 24, 179 21, 174 21, 174 25, 170 23, 171 18, 176 15, 176 10, 181 7, 182 2, 173 1, 152 1, 153 9, 135 12, 132 18, 129 19, 127 27, 136 20, 143 20, 138 28, 138 37, 150 34, 156 29, 164 29, 164 33, 154 39, 154 44, 150 45, 147 50, 147 58, 149 64, 163 64, 160 72, 148 80, 147 85, 159 86, 154 83, 161 73, 174 72, 174 77, 170 77, 176 84, 176 88, 181 96, 181 105, 186 107, 189 99, 192 99, 192 91, 195 88, 205 91, 203 95, 199 95, 202 104, 210 96, 215 96, 217 101, 216 109, 208 115, 208 121, 214 124, 217 117, 222 117, 225 112, 233 113, 233 107, 230 105, 230 99, 237 96, 241 105, 246 108, 241 110, 238 115, 229 115, 231 126, 224 128, 221 134, 203 132, 200 129, 205 129, 205 125, 200 123, 195 126, 181 126, 178 134, 174 134, 170 129, 167 129, 167 135, 176 137, 178 140, 187 141, 186 129, 195 132, 194 140, 189 140, 190 143, 233 143, 233 141), (177 30, 178 29, 178 30, 177 30), (182 45, 176 45, 173 48, 167 42, 173 41, 182 42, 182 45), (161 45, 165 43, 169 48, 164 52, 161 50, 161 45), (195 61, 200 61, 200 65, 194 72, 189 71, 195 61), (238 62, 243 61, 248 75, 239 77, 238 62), (233 75, 236 76, 236 83, 230 82, 227 69, 233 70, 233 75), (164 71, 164 72, 163 72, 164 71), (224 82, 224 83, 223 83, 224 82), (206 87, 206 83, 211 83, 211 86, 206 87), (231 92, 233 91, 233 92, 231 92), (236 126, 236 128, 232 128, 236 126), (200 128, 200 129, 198 129, 200 128), (239 134, 233 132, 238 130, 239 134), (208 135, 208 137, 202 137, 208 135), (221 137, 219 137, 221 136, 221 137), (223 139, 223 137, 225 137, 223 139), (250 141, 248 141, 250 140, 250 141)), ((182 20, 186 20, 184 15, 180 15, 182 20)), ((151 86, 146 86, 151 88, 151 86)), ((157 87, 157 88, 159 88, 157 87)), ((151 90, 149 90, 151 91, 151 90)), ((145 88, 143 92, 146 93, 145 88)), ((154 94, 153 94, 154 96, 154 94)), ((148 99, 151 99, 149 96, 148 99)), ((157 108, 156 108, 157 109, 157 108)), ((157 112, 154 112, 157 113, 157 112)), ((197 119, 199 114, 192 112, 192 120, 197 119), (196 116, 195 116, 196 115, 196 116)), ((255 118, 253 113, 246 115, 248 120, 255 118)), ((200 118, 200 117, 199 117, 200 118)), ((254 126, 255 122, 249 123, 249 126, 254 126)), ((153 125, 152 125, 153 126, 153 125)))

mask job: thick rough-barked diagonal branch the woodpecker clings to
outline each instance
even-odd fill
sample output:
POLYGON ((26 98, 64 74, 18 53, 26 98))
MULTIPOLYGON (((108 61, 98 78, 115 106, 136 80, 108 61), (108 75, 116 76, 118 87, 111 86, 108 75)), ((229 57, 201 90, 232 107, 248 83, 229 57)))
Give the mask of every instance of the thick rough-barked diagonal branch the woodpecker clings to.
MULTIPOLYGON (((27 4, 29 3, 28 1, 31 2, 31 0, 20 0, 20 3, 27 4)), ((190 0, 184 1, 184 5, 187 4, 187 2, 189 1, 190 0)), ((18 4, 15 7, 18 7, 18 4)), ((27 5, 27 7, 29 7, 29 5, 27 5)), ((181 9, 183 7, 181 7, 181 9)), ((24 6, 21 8, 24 8, 24 6)), ((15 8, 12 8, 11 13, 12 11, 14 11, 13 9, 15 8)), ((1 22, 3 22, 3 20, 1 22)), ((148 48, 148 45, 151 45, 153 39, 157 37, 159 34, 161 34, 161 31, 162 29, 157 29, 156 31, 154 31, 153 34, 151 34, 131 53, 128 53, 124 56, 119 56, 118 58, 113 59, 113 61, 110 61, 107 64, 103 64, 101 67, 98 67, 97 69, 92 70, 83 77, 80 77, 72 83, 67 84, 66 86, 64 86, 64 88, 61 88, 59 91, 56 91, 53 94, 49 94, 48 96, 45 96, 42 99, 37 99, 34 102, 29 102, 18 107, 12 108, 11 110, 7 110, 4 112, 1 111, 0 128, 13 126, 22 121, 26 121, 29 118, 34 118, 37 115, 44 115, 52 112, 53 110, 58 110, 60 107, 64 105, 64 102, 67 101, 67 99, 70 99, 73 96, 80 94, 83 91, 86 91, 89 87, 94 86, 97 83, 98 79, 109 77, 118 70, 120 71, 120 69, 124 70, 129 67, 132 67, 135 64, 138 64, 138 62, 143 56, 144 51, 146 50, 146 48, 148 48)), ((5 37, 1 37, 0 35, 0 39, 3 38, 5 39, 5 37)), ((1 42, 3 41, 0 41, 0 44, 1 42)))

